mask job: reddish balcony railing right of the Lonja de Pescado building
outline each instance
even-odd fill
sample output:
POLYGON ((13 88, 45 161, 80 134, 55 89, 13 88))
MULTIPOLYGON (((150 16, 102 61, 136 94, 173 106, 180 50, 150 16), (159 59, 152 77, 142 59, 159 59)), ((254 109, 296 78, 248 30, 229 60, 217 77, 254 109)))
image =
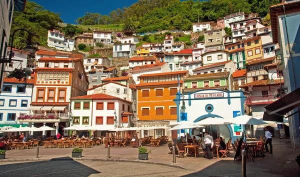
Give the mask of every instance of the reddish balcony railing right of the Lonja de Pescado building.
POLYGON ((245 103, 247 105, 250 104, 270 104, 274 102, 275 100, 279 99, 280 97, 284 96, 284 94, 281 94, 281 96, 277 96, 275 94, 268 94, 268 95, 261 95, 261 96, 249 96, 246 98, 245 103))

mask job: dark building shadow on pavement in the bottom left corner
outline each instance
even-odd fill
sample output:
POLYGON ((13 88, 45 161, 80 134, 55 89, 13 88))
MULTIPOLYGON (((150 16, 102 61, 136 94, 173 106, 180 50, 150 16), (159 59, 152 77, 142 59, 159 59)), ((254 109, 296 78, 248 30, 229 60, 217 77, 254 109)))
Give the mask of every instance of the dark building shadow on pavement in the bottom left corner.
POLYGON ((70 157, 0 165, 0 176, 89 176, 100 173, 70 157))

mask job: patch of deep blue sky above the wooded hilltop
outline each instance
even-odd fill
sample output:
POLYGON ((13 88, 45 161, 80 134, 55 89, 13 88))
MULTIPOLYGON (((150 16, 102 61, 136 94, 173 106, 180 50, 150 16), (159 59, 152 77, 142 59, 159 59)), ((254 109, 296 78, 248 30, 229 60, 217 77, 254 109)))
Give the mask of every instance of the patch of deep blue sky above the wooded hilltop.
POLYGON ((59 12, 60 18, 65 23, 75 24, 78 17, 85 12, 109 14, 117 8, 128 7, 138 0, 28 0, 33 1, 44 9, 59 12))

